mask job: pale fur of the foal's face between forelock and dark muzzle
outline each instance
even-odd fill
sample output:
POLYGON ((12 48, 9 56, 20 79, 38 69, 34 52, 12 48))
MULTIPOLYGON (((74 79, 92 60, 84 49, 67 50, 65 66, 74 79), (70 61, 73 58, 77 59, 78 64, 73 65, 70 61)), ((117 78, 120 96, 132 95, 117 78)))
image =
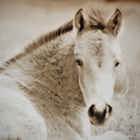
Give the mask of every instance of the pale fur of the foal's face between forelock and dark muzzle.
POLYGON ((84 63, 82 68, 78 67, 79 75, 81 75, 79 84, 84 93, 87 108, 93 103, 96 104, 96 102, 100 102, 100 105, 111 104, 114 92, 115 69, 117 69, 115 68, 115 61, 120 62, 121 54, 118 39, 104 35, 100 31, 94 34, 89 31, 77 40, 75 55, 84 63), (87 48, 87 46, 90 47, 87 48), (96 49, 102 51, 103 54, 101 52, 101 56, 98 56, 99 54, 95 53, 96 49), (98 59, 101 59, 101 68, 98 67, 98 59))

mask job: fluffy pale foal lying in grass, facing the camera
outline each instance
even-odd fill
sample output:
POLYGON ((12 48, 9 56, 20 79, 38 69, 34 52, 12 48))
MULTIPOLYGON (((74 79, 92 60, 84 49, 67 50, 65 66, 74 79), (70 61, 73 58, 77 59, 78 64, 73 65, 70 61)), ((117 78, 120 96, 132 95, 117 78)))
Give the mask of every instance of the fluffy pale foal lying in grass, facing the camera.
POLYGON ((90 134, 112 114, 120 63, 119 9, 105 18, 79 9, 0 67, 0 140, 128 140, 90 134))

